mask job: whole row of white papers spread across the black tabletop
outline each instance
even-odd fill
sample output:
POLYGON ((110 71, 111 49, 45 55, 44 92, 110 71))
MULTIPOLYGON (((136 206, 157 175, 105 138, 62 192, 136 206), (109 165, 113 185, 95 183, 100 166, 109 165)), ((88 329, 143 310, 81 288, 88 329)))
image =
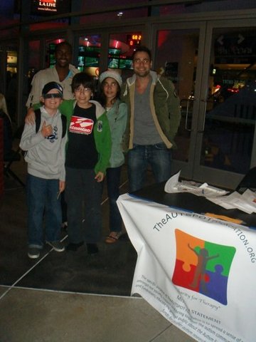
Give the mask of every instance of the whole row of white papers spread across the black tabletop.
POLYGON ((166 182, 164 187, 165 192, 190 192, 193 195, 206 197, 209 201, 225 209, 240 209, 247 214, 256 212, 256 192, 247 189, 242 195, 238 192, 227 195, 228 191, 218 189, 218 187, 211 187, 207 183, 201 184, 193 181, 179 182, 178 178, 180 173, 181 171, 166 182))

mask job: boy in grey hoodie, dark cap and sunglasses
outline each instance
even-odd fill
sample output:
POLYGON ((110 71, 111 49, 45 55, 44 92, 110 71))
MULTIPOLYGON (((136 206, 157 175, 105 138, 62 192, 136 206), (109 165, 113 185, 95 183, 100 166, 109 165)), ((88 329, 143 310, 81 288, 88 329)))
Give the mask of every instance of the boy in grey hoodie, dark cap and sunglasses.
POLYGON ((41 122, 25 124, 20 147, 26 150, 28 203, 28 257, 37 259, 44 241, 57 252, 60 242, 60 193, 65 189, 65 142, 67 134, 58 107, 63 101, 63 88, 49 82, 43 87, 41 122), (45 234, 43 234, 45 217, 45 234))

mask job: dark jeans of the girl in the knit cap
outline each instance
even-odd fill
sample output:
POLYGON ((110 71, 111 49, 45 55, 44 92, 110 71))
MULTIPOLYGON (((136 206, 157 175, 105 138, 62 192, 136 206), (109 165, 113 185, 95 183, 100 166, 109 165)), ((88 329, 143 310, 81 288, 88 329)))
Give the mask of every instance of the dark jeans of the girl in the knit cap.
POLYGON ((122 166, 107 169, 107 195, 110 199, 110 232, 122 231, 122 217, 117 207, 122 166))

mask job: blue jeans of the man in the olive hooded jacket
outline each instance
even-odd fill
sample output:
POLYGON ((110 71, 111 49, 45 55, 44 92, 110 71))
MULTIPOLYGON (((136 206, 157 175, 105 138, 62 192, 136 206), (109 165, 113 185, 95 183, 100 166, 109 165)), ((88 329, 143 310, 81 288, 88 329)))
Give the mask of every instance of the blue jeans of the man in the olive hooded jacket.
POLYGON ((156 145, 136 145, 128 152, 129 192, 144 187, 148 166, 155 182, 164 182, 171 177, 171 150, 164 142, 156 145))

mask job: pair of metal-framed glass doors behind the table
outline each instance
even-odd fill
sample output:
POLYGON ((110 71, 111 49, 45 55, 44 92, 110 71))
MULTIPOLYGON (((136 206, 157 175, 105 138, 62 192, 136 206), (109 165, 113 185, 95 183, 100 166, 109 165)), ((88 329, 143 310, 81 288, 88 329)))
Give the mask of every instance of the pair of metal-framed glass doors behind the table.
POLYGON ((181 99, 174 172, 235 189, 256 162, 255 27, 186 23, 156 37, 155 69, 181 99))

